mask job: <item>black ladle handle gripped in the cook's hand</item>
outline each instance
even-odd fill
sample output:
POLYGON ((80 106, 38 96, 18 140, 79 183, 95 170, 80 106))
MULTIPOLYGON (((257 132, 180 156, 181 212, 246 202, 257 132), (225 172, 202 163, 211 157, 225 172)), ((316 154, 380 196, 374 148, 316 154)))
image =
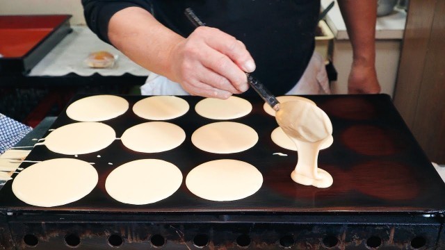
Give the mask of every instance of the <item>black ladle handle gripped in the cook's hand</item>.
MULTIPOLYGON (((199 17, 197 17, 197 15, 195 15, 195 12, 193 12, 193 10, 191 8, 186 8, 186 10, 184 10, 184 15, 186 15, 188 20, 190 20, 190 22, 195 27, 205 26, 205 24, 200 20, 199 17)), ((272 107, 275 111, 279 110, 280 102, 277 100, 277 98, 272 93, 270 93, 270 91, 263 85, 263 83, 261 83, 256 78, 251 76, 249 73, 245 73, 245 74, 248 76, 248 83, 249 83, 250 87, 252 87, 255 90, 255 92, 257 92, 259 94, 259 96, 264 101, 266 101, 266 103, 268 103, 269 106, 272 107)))

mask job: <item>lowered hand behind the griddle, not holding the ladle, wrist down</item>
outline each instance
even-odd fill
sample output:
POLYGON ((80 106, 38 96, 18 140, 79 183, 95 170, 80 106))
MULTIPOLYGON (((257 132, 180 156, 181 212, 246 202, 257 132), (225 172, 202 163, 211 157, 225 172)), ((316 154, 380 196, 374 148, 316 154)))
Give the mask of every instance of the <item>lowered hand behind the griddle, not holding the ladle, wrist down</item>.
POLYGON ((353 64, 348 78, 348 94, 378 94, 380 85, 375 67, 353 64))

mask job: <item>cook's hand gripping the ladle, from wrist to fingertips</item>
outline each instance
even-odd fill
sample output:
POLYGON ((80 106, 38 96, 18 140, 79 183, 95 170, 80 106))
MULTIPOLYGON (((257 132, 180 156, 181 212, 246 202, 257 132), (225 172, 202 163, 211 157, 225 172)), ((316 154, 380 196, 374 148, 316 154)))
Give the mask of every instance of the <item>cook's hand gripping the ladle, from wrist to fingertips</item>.
POLYGON ((211 27, 198 27, 169 56, 174 76, 188 93, 227 99, 248 90, 245 72, 255 63, 245 45, 236 38, 211 27))

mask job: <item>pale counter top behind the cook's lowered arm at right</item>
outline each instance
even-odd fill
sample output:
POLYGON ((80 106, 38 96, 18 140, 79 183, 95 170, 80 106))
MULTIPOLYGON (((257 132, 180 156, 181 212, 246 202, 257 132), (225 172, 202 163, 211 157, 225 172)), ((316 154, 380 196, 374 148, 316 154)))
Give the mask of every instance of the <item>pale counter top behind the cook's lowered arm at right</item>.
MULTIPOLYGON (((334 33, 337 40, 349 40, 346 32, 346 24, 341 16, 339 4, 334 0, 335 4, 332 9, 327 12, 325 17, 327 25, 334 33)), ((321 7, 326 8, 332 0, 321 0, 321 7)), ((386 16, 378 17, 375 26, 375 39, 390 40, 403 39, 403 31, 405 31, 406 12, 395 8, 394 11, 386 16)))

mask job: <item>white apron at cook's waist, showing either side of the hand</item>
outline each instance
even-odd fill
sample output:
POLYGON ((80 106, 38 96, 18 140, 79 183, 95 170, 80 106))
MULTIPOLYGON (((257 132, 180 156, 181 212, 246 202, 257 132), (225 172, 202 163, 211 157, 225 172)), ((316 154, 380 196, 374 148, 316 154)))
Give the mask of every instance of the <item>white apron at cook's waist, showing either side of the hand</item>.
MULTIPOLYGON (((150 73, 147 81, 140 87, 143 95, 188 95, 179 83, 164 76, 150 73)), ((330 94, 329 79, 323 57, 314 52, 300 81, 286 94, 330 94)))

